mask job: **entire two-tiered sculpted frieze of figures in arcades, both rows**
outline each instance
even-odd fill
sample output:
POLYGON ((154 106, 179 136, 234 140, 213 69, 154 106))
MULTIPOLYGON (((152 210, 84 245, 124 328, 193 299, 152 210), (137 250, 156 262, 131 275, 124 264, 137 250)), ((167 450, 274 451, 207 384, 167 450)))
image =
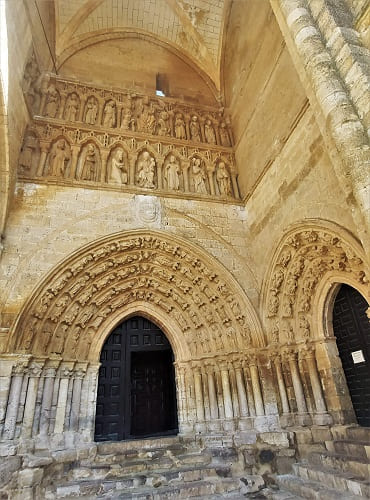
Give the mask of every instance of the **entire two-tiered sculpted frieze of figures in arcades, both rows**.
POLYGON ((38 111, 24 137, 20 177, 239 198, 223 110, 38 75, 38 111))

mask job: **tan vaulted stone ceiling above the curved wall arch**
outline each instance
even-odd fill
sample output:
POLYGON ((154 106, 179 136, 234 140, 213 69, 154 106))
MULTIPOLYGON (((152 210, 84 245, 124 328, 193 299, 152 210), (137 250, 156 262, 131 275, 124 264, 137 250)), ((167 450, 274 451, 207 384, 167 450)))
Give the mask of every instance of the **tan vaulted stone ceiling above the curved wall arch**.
POLYGON ((55 0, 58 64, 102 40, 143 35, 177 52, 220 89, 231 0, 55 0))

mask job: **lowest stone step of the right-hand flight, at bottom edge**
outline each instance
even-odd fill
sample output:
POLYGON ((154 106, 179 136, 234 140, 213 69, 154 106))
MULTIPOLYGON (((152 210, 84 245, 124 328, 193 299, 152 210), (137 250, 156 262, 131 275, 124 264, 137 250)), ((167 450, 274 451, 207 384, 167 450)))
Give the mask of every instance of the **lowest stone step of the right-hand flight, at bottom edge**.
POLYGON ((305 480, 293 474, 276 476, 276 483, 282 491, 290 491, 299 497, 311 500, 363 500, 364 498, 327 488, 321 483, 305 480))

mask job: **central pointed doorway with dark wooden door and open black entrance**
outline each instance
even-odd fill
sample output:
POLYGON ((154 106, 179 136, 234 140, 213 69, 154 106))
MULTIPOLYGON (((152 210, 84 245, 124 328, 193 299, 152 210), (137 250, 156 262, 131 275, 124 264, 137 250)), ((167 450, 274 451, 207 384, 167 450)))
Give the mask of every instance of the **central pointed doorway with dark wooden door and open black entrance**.
POLYGON ((146 318, 112 331, 100 355, 95 441, 177 434, 173 361, 165 334, 146 318))

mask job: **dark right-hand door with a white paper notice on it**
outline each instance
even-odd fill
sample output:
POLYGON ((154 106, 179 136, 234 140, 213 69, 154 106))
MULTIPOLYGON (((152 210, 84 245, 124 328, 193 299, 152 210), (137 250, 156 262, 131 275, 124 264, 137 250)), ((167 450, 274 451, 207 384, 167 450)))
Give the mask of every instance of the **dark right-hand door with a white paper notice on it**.
POLYGON ((354 288, 342 285, 333 309, 333 329, 360 425, 370 427, 370 324, 368 304, 354 288))

